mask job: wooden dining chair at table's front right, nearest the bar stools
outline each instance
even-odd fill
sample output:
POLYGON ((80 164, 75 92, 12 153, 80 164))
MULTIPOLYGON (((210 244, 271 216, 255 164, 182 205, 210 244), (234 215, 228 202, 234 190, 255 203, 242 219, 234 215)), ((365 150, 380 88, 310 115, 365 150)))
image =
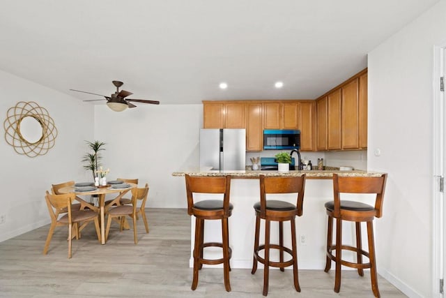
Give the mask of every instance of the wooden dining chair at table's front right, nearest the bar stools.
MULTIPOLYGON (((123 204, 117 207, 109 207, 107 208, 107 228, 105 230, 105 241, 107 241, 110 232, 110 225, 112 225, 113 218, 121 218, 120 220, 120 231, 122 232, 124 226, 125 216, 130 216, 133 220, 133 237, 134 244, 138 243, 137 237, 137 215, 141 215, 144 221, 144 225, 146 227, 146 233, 148 233, 148 222, 146 217, 146 201, 148 196, 148 184, 144 186, 144 188, 132 188, 132 204, 123 204), (140 207, 138 207, 138 202, 141 201, 140 207)), ((119 200, 116 198, 114 201, 119 200)), ((111 202, 110 206, 113 206, 117 202, 111 202)))

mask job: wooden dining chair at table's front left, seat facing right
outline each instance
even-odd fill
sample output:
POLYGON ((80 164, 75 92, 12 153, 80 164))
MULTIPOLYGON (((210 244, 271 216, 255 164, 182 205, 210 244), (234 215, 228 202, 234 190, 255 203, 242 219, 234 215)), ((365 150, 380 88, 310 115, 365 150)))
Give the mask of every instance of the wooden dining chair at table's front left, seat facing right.
POLYGON ((45 241, 45 247, 43 248, 43 254, 46 255, 49 248, 49 243, 51 242, 54 229, 59 226, 68 225, 68 258, 71 258, 71 240, 72 233, 75 232, 76 239, 79 239, 80 234, 79 224, 87 225, 91 221, 95 223, 96 234, 98 236, 98 241, 100 241, 100 230, 99 230, 99 216, 98 213, 91 210, 72 210, 72 202, 76 200, 76 195, 74 193, 66 193, 61 195, 54 195, 46 192, 45 201, 47 202, 47 207, 49 211, 49 217, 51 218, 51 225, 49 226, 49 231, 47 235, 47 240, 45 241), (66 209, 67 212, 63 214, 61 210, 66 209), (63 215, 61 215, 63 214, 63 215))

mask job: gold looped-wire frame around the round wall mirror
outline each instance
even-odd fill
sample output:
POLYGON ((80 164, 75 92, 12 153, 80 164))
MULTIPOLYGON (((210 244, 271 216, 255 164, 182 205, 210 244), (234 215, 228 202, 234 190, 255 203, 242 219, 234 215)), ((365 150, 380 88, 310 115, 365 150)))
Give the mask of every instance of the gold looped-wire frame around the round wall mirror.
POLYGON ((15 107, 10 107, 3 127, 6 142, 13 146, 18 154, 29 157, 47 154, 49 149, 54 147, 57 137, 56 126, 53 119, 49 117, 48 111, 33 101, 27 103, 20 101, 15 107), (20 124, 26 117, 36 119, 42 128, 42 136, 36 142, 26 140, 20 131, 20 124))

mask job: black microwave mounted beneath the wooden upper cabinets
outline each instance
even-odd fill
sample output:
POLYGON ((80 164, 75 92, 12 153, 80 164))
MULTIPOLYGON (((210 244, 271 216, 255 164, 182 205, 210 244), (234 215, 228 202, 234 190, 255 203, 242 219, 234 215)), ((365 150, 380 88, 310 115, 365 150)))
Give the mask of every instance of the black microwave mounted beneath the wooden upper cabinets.
POLYGON ((266 129, 263 131, 263 149, 300 149, 300 131, 266 129))

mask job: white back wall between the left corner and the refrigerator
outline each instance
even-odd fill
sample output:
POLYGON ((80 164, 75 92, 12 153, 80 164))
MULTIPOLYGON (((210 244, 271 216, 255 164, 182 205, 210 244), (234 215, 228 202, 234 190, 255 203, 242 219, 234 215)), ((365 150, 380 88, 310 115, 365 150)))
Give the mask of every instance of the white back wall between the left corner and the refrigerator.
POLYGON ((149 184, 148 207, 185 208, 183 177, 172 172, 199 165, 203 105, 144 105, 113 112, 95 106, 95 139, 107 143, 102 163, 109 179, 149 184))

